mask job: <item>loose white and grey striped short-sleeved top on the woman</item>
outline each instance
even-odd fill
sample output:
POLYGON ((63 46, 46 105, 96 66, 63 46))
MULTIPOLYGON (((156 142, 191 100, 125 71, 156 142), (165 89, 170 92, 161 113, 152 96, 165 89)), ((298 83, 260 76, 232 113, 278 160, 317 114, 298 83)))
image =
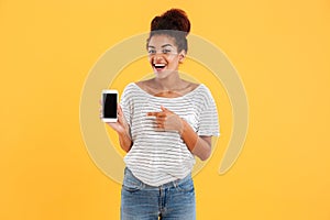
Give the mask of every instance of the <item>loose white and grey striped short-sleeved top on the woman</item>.
POLYGON ((121 96, 121 107, 131 128, 133 145, 124 162, 135 177, 151 186, 184 178, 195 164, 178 132, 154 129, 154 118, 146 113, 161 111, 161 106, 186 120, 198 135, 219 135, 217 107, 205 85, 182 97, 164 98, 129 84, 121 96))

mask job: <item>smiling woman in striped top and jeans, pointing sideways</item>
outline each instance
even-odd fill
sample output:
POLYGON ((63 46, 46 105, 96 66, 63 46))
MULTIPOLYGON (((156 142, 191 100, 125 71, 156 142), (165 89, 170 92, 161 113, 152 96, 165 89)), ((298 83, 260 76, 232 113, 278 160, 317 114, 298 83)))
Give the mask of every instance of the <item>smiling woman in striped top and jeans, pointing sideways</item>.
POLYGON ((129 84, 108 123, 128 152, 121 219, 196 219, 191 169, 207 160, 219 135, 215 100, 205 85, 180 78, 190 22, 172 9, 151 22, 146 47, 154 78, 129 84))

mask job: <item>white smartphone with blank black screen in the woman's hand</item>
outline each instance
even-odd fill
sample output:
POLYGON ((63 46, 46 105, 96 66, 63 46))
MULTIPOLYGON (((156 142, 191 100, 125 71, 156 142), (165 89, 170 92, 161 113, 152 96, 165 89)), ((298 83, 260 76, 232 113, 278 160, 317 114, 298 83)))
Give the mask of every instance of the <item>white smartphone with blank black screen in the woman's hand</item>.
POLYGON ((118 112, 118 91, 113 89, 102 90, 102 121, 103 122, 117 122, 118 112))

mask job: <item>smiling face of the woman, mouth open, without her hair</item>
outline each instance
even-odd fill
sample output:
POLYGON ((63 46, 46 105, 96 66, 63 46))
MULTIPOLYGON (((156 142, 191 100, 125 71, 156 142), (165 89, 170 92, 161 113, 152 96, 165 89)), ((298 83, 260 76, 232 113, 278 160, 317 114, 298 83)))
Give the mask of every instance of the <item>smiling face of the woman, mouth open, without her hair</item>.
POLYGON ((167 35, 153 35, 147 45, 148 62, 156 77, 166 78, 178 70, 185 51, 178 53, 175 38, 167 35))

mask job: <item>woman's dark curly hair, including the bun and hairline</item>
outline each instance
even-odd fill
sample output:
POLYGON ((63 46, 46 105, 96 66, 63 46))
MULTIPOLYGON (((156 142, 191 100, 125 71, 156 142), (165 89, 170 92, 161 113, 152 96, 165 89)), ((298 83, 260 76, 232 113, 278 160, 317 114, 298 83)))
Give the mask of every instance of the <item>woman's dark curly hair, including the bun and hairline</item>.
POLYGON ((190 32, 190 21, 185 11, 170 9, 151 22, 151 32, 146 46, 153 35, 168 35, 175 38, 178 52, 188 51, 187 35, 190 32))

